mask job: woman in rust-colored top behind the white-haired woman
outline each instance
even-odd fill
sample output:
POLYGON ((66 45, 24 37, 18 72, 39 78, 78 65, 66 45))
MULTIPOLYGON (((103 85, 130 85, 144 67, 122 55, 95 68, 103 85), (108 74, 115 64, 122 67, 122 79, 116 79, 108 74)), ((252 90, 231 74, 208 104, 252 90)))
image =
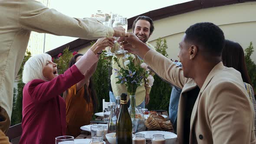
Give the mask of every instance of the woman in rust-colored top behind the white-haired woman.
MULTIPOLYGON (((99 56, 99 55, 98 55, 99 56)), ((75 64, 82 54, 76 54, 69 62, 69 67, 75 64)), ((97 67, 95 63, 86 73, 85 79, 70 87, 63 94, 66 101, 66 134, 77 137, 80 127, 90 124, 92 115, 97 108, 97 96, 93 88, 92 74, 97 67)))

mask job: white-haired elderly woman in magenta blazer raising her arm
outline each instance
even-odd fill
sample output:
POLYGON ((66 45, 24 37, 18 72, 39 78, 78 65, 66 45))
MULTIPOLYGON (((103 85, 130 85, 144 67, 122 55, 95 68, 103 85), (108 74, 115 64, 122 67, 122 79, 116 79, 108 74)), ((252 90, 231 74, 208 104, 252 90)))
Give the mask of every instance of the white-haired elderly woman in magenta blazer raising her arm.
POLYGON ((57 65, 48 54, 32 56, 24 65, 23 111, 20 144, 55 144, 55 137, 66 135, 66 102, 59 96, 82 79, 98 61, 97 53, 112 47, 112 38, 97 42, 70 67, 58 75, 57 65))

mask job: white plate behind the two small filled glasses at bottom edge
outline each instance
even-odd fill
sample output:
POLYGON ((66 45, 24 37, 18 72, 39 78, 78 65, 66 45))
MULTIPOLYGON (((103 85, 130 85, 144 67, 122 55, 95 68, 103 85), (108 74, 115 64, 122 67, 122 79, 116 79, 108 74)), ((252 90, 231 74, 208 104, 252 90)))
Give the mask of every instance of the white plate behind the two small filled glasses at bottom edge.
POLYGON ((153 134, 163 134, 165 138, 165 144, 176 144, 177 135, 168 131, 141 131, 136 134, 145 134, 145 138, 150 140, 153 138, 153 134))

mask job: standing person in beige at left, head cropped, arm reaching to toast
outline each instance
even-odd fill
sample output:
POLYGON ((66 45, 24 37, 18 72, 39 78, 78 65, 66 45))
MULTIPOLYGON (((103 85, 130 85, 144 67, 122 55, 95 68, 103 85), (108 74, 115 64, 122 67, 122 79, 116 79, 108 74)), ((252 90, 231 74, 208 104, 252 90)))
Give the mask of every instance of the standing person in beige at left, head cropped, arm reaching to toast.
POLYGON ((92 18, 72 18, 35 0, 0 0, 0 129, 10 126, 13 82, 31 31, 81 39, 122 37, 125 29, 104 26, 92 18))

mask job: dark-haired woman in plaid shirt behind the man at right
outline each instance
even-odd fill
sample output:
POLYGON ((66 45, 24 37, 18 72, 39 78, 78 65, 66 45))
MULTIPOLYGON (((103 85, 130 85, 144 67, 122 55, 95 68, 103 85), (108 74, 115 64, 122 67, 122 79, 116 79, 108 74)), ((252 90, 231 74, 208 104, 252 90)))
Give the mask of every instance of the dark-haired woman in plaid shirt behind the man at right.
MULTIPOLYGON (((242 46, 239 43, 226 39, 225 47, 222 51, 222 62, 226 67, 234 68, 241 73, 244 86, 248 93, 249 99, 253 104, 254 112, 256 115, 256 101, 253 92, 253 84, 251 82, 251 79, 246 68, 242 46)), ((256 118, 254 118, 254 126, 254 132, 256 135, 256 118)))

